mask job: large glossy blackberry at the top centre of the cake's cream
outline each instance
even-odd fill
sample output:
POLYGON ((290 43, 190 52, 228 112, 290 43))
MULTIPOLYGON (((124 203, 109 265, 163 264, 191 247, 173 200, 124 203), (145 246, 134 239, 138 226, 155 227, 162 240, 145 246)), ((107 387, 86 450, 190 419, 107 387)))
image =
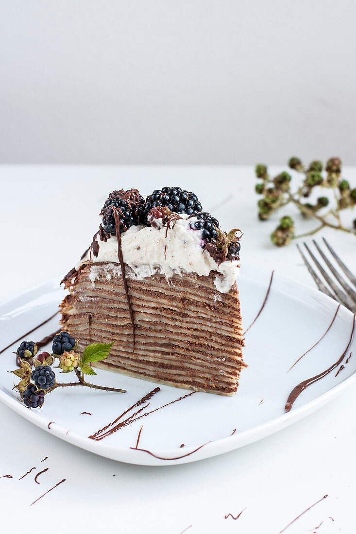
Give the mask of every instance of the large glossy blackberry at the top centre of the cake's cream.
POLYGON ((181 187, 162 187, 162 189, 156 189, 151 195, 148 195, 144 203, 142 222, 147 226, 150 225, 147 216, 151 209, 157 206, 164 206, 174 213, 187 215, 195 215, 202 210, 202 205, 194 193, 184 191, 181 187))

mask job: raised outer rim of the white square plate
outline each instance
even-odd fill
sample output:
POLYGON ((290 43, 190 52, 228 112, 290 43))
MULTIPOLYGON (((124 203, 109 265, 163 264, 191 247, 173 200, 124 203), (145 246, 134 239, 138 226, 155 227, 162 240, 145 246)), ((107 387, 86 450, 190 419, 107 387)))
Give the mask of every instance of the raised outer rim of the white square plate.
MULTIPOLYGON (((268 277, 270 276, 270 271, 268 271, 267 269, 257 268, 255 265, 250 266, 248 264, 245 264, 245 266, 247 268, 246 271, 244 269, 246 273, 246 278, 256 280, 256 277, 254 275, 255 273, 256 275, 257 273, 259 273, 262 279, 264 280, 262 282, 262 286, 268 286, 268 277)), ((319 302, 325 304, 325 308, 331 309, 330 304, 336 303, 334 299, 331 299, 331 297, 329 297, 328 295, 323 294, 322 292, 320 292, 320 290, 309 286, 305 282, 296 282, 291 277, 288 277, 284 273, 279 272, 277 269, 275 269, 274 271, 278 279, 281 279, 281 281, 285 282, 285 284, 291 284, 292 286, 295 286, 298 289, 304 288, 308 294, 318 297, 319 302)), ((259 279, 261 279, 260 276, 258 277, 259 279)), ((14 295, 10 299, 6 299, 5 301, 0 302, 0 313, 3 307, 11 305, 11 302, 16 301, 19 297, 26 297, 26 295, 33 293, 35 290, 38 291, 42 288, 44 289, 45 287, 49 286, 55 289, 57 284, 58 280, 52 278, 42 282, 42 284, 38 284, 26 290, 25 292, 14 295)), ((346 312, 346 316, 349 316, 351 320, 354 314, 350 310, 345 308, 343 305, 340 305, 340 307, 343 308, 344 312, 346 312)), ((260 439, 270 436, 276 433, 278 430, 287 428, 293 422, 299 421, 300 419, 318 410, 320 407, 326 405, 333 398, 340 395, 347 387, 349 387, 355 381, 356 372, 354 372, 350 376, 347 376, 347 378, 345 378, 342 382, 339 382, 338 384, 330 388, 328 391, 324 392, 322 395, 319 395, 318 397, 309 400, 302 406, 299 406, 288 413, 278 415, 278 417, 260 423, 259 425, 254 426, 250 429, 236 432, 230 436, 214 439, 211 442, 207 442, 203 444, 203 446, 195 454, 190 454, 190 456, 187 456, 187 451, 188 453, 191 452, 191 450, 194 451, 197 445, 184 447, 185 454, 182 455, 181 458, 176 458, 177 454, 182 453, 182 449, 180 447, 174 447, 172 449, 151 449, 150 452, 156 454, 157 456, 163 455, 165 459, 157 459, 154 456, 151 456, 151 454, 146 454, 143 451, 140 451, 140 449, 137 449, 136 453, 134 453, 131 451, 135 449, 128 449, 127 447, 120 447, 117 445, 96 442, 88 437, 76 433, 71 429, 64 428, 63 426, 60 426, 57 423, 53 423, 53 426, 51 426, 51 428, 48 428, 50 421, 47 421, 35 411, 29 410, 26 406, 22 405, 18 399, 10 396, 6 391, 4 391, 2 387, 0 387, 0 401, 3 402, 6 406, 9 406, 10 409, 18 413, 24 419, 27 419, 28 421, 34 423, 34 425, 36 425, 37 427, 42 428, 51 435, 63 439, 63 441, 78 446, 81 449, 87 450, 94 454, 98 454, 102 457, 110 458, 115 461, 122 461, 128 464, 167 466, 185 464, 189 462, 211 458, 220 454, 224 454, 226 452, 237 450, 245 445, 260 441, 260 439)))

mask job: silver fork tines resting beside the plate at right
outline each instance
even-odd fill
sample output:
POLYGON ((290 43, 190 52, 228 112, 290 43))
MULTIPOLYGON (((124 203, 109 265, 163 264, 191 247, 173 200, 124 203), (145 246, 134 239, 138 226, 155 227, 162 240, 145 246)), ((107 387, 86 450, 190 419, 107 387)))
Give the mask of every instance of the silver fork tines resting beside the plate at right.
POLYGON ((327 246, 330 254, 332 257, 334 257, 334 260, 339 265, 340 269, 345 273, 346 277, 343 277, 340 275, 340 273, 335 269, 335 266, 330 262, 328 257, 324 254, 322 249, 319 247, 318 243, 313 239, 313 243, 316 247, 316 250, 318 250, 320 256, 324 260, 324 262, 327 264, 329 270, 334 275, 335 279, 339 283, 339 285, 343 288, 343 290, 336 284, 336 282, 331 278, 330 274, 323 268, 323 266, 320 264, 320 262, 317 260, 317 258, 312 253, 311 249, 308 247, 308 245, 304 242, 304 246, 309 254, 309 256, 312 258, 314 264, 316 265, 316 268, 319 270, 319 273, 324 278, 324 280, 329 285, 329 288, 324 284, 324 282, 320 279, 318 274, 315 272, 311 264, 308 262, 307 258, 305 257, 304 253, 302 252, 299 245, 297 245, 298 250, 300 252, 301 257, 303 258, 303 261, 309 271, 311 273, 312 277, 314 278, 315 284, 319 287, 320 291, 325 293, 326 295, 329 295, 331 299, 336 300, 340 304, 344 304, 346 308, 349 308, 349 310, 352 311, 352 313, 356 313, 356 292, 352 288, 352 286, 348 283, 351 282, 351 284, 354 285, 356 288, 356 277, 355 275, 346 267, 346 265, 340 260, 338 255, 336 254, 335 250, 329 245, 326 239, 322 238, 324 241, 324 244, 327 246))

